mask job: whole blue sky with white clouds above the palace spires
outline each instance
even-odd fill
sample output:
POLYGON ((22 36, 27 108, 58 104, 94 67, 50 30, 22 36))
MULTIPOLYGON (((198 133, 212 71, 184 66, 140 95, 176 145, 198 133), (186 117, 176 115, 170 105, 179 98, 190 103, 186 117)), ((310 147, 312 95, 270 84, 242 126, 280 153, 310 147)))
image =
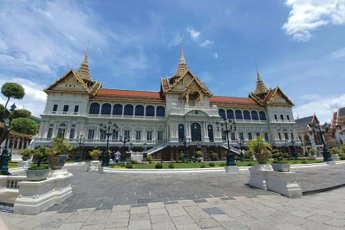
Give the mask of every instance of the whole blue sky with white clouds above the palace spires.
MULTIPOLYGON (((159 90, 179 60, 214 95, 248 97, 256 66, 295 103, 295 118, 322 122, 345 106, 345 0, 1 1, 0 85, 18 82, 34 115, 42 89, 89 66, 103 88, 159 90)), ((0 103, 5 98, 0 97, 0 103)))

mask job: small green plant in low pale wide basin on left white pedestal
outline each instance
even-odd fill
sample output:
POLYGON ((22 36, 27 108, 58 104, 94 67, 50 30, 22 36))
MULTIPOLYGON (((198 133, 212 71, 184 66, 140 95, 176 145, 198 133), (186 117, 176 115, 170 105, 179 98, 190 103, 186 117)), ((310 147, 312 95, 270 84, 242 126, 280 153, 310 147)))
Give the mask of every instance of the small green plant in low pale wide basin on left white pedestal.
POLYGON ((39 146, 32 151, 34 160, 37 161, 36 166, 30 166, 26 171, 26 178, 28 181, 39 181, 48 178, 50 169, 48 166, 41 166, 41 162, 46 160, 52 154, 52 151, 47 146, 39 146))

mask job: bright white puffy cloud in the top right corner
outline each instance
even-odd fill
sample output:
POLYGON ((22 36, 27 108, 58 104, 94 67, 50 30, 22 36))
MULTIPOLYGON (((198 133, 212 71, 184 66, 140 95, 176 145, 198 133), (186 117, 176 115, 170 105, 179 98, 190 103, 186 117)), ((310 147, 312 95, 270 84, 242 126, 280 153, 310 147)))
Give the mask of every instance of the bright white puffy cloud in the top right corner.
POLYGON ((285 4, 292 9, 282 28, 297 41, 311 39, 310 31, 319 26, 345 23, 345 0, 286 0, 285 4))

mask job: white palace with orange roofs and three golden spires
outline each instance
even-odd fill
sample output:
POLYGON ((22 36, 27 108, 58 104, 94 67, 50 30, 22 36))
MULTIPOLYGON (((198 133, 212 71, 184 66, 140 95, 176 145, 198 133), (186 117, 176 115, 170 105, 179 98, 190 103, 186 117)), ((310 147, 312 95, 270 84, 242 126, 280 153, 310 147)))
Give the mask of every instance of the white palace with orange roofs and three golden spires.
POLYGON ((235 122, 229 135, 234 153, 260 134, 289 153, 301 145, 294 104, 278 86, 267 88, 257 72, 256 88, 248 97, 213 95, 188 68, 182 47, 176 72, 160 79, 159 91, 103 88, 90 76, 86 52, 77 71, 71 68, 44 92, 46 107, 32 146, 50 145, 53 137, 63 135, 76 146, 85 138, 86 153, 106 149, 109 136, 111 151, 123 152, 126 145, 127 154, 145 152, 161 160, 178 159, 184 151, 189 156, 199 151, 205 160, 211 153, 224 158, 226 136, 216 125, 222 118, 235 122), (104 131, 100 124, 108 122, 112 126, 104 131), (124 137, 127 143, 121 142, 124 137))

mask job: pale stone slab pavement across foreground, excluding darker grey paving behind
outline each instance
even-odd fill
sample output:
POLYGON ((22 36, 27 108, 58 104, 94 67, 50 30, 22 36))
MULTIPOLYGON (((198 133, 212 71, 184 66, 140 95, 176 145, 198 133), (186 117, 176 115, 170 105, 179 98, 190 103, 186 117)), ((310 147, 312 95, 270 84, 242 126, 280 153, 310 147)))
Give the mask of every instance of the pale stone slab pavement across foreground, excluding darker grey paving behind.
MULTIPOLYGON (((207 198, 38 215, 0 213, 8 229, 344 229, 345 188, 286 198, 207 198)), ((5 230, 5 227, 1 227, 5 230)))

